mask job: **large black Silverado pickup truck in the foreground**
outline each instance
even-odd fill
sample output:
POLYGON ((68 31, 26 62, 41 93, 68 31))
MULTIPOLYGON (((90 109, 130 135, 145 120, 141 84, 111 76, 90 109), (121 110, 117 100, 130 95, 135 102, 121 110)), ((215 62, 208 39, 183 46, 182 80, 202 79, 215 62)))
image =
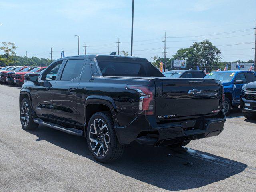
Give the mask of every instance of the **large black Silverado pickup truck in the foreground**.
POLYGON ((223 100, 220 81, 166 78, 144 58, 72 56, 29 75, 20 120, 25 130, 42 124, 84 136, 94 158, 110 162, 134 142, 179 147, 220 134, 223 100))

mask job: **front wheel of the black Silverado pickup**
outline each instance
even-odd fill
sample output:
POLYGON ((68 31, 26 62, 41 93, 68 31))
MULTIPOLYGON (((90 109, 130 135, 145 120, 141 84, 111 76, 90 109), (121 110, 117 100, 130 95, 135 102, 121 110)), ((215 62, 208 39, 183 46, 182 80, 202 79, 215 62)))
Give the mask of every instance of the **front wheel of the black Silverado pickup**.
POLYGON ((33 121, 28 98, 24 98, 20 104, 20 123, 24 130, 35 130, 38 127, 38 124, 33 121))

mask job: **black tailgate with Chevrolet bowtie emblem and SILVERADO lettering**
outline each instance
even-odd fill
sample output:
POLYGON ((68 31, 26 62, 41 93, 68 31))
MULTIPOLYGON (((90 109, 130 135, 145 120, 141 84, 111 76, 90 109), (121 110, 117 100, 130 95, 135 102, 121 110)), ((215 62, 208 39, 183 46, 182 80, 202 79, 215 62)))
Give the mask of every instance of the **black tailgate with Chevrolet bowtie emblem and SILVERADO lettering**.
POLYGON ((214 114, 222 107, 222 89, 216 80, 155 80, 155 115, 182 117, 214 114))

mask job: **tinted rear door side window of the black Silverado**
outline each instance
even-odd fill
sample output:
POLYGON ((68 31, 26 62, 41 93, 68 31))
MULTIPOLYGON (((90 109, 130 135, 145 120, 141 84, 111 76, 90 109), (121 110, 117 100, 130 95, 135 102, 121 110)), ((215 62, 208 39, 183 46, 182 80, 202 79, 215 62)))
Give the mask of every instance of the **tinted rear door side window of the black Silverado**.
POLYGON ((83 59, 68 60, 62 72, 61 80, 72 80, 80 76, 84 65, 83 59))

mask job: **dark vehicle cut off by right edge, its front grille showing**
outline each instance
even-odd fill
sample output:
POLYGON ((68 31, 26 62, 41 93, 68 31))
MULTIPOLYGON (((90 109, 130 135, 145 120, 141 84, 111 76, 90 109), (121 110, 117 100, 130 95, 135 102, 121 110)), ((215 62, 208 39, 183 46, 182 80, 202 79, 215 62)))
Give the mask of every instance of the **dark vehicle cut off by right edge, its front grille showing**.
POLYGON ((256 81, 242 87, 240 107, 247 119, 256 119, 256 81))

